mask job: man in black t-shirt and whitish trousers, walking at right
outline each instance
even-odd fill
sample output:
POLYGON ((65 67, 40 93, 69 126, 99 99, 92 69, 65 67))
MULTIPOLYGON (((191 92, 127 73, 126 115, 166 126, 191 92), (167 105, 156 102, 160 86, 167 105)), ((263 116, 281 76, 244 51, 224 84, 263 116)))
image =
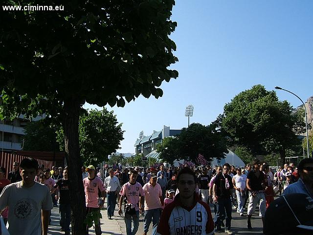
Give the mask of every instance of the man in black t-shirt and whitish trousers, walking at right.
POLYGON ((260 171, 260 161, 255 159, 253 161, 253 169, 248 173, 246 177, 246 188, 249 190, 249 204, 248 204, 248 221, 247 228, 252 229, 251 217, 255 211, 256 205, 259 203, 260 214, 262 216, 262 222, 264 226, 264 216, 266 211, 265 193, 262 186, 264 181, 264 173, 260 171))

